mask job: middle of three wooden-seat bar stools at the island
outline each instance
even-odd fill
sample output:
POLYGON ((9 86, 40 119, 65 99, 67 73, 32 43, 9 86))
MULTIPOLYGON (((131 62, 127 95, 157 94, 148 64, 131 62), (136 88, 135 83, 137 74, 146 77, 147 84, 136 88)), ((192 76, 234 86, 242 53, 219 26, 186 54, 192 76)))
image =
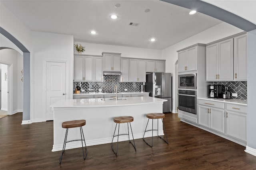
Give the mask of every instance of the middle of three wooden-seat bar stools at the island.
POLYGON ((130 135, 129 135, 129 125, 128 125, 128 123, 130 123, 130 128, 131 128, 131 131, 132 131, 132 126, 131 126, 131 122, 132 122, 132 121, 133 121, 133 117, 132 117, 132 116, 114 117, 114 122, 116 123, 116 126, 117 126, 117 123, 118 123, 118 135, 115 135, 115 133, 116 133, 116 128, 115 128, 114 135, 113 135, 113 139, 112 139, 112 143, 111 143, 111 147, 112 147, 113 152, 114 152, 116 155, 117 155, 117 152, 118 152, 118 138, 119 138, 120 135, 128 135, 129 143, 132 144, 132 146, 134 147, 135 152, 136 152, 136 146, 135 146, 133 134, 132 134, 133 143, 130 141, 130 135), (120 126, 120 123, 127 123, 128 134, 120 134, 120 135, 119 135, 119 126, 120 126), (114 140, 114 137, 117 137, 116 152, 115 152, 115 150, 114 150, 114 148, 113 148, 113 140, 114 140))

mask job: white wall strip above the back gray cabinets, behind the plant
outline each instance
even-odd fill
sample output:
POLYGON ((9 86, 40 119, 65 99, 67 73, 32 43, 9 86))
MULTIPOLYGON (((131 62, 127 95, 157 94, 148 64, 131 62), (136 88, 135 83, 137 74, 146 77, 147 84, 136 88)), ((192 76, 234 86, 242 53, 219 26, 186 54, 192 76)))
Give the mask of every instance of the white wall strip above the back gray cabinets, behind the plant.
MULTIPOLYGON (((142 58, 142 59, 162 59, 161 51, 155 49, 143 49, 135 47, 124 47, 118 45, 104 45, 104 44, 95 44, 95 43, 84 43, 84 42, 75 42, 75 44, 81 44, 85 46, 85 51, 83 54, 88 55, 102 55, 102 52, 111 52, 111 53, 122 53, 121 57, 130 57, 130 58, 142 58)), ((74 53, 78 53, 74 49, 74 53)))

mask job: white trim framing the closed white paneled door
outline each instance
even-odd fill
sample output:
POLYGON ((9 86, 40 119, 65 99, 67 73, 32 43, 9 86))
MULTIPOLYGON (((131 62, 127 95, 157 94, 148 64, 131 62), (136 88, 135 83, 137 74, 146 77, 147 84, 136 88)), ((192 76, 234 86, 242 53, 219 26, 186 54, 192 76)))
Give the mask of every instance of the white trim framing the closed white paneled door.
POLYGON ((69 70, 69 61, 68 60, 58 60, 58 59, 44 59, 43 62, 43 73, 44 73, 44 112, 43 112, 43 120, 42 121, 46 121, 46 64, 48 62, 54 62, 54 63, 66 63, 66 98, 69 99, 69 93, 68 93, 68 89, 69 89, 69 84, 68 84, 68 78, 69 78, 69 74, 67 72, 67 70, 69 70))

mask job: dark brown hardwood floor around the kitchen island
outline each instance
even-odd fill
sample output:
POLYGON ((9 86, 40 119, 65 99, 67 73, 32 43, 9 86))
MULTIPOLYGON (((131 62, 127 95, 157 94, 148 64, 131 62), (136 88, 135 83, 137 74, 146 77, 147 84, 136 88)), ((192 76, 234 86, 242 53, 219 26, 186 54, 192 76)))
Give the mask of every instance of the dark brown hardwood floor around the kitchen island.
POLYGON ((177 116, 166 113, 164 118, 169 145, 154 137, 150 148, 136 139, 135 152, 127 141, 121 142, 117 156, 110 144, 90 146, 86 160, 81 148, 70 149, 60 166, 61 151, 51 152, 53 122, 21 125, 22 113, 9 115, 0 119, 0 170, 256 170, 256 157, 244 152, 245 147, 180 122, 177 116))

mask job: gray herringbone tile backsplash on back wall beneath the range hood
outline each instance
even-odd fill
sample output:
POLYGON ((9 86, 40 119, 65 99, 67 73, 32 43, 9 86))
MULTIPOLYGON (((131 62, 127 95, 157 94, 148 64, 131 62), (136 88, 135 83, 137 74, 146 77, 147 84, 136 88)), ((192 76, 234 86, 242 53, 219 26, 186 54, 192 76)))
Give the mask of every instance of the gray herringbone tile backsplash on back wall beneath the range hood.
POLYGON ((140 86, 143 83, 130 83, 130 82, 119 82, 119 76, 104 76, 103 82, 73 82, 73 88, 80 86, 85 92, 98 92, 102 89, 103 92, 113 92, 114 86, 117 85, 118 92, 140 92, 140 86))

